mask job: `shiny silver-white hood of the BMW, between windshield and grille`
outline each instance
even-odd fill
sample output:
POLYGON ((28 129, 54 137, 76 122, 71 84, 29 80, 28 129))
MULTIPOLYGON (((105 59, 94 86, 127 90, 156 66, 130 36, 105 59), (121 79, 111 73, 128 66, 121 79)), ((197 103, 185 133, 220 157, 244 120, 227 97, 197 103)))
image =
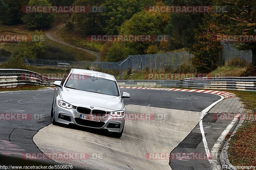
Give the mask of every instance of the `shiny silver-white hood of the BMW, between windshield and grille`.
POLYGON ((123 100, 118 96, 86 92, 65 87, 61 89, 60 94, 63 101, 75 106, 103 107, 112 109, 113 111, 121 110, 123 108, 123 100))

